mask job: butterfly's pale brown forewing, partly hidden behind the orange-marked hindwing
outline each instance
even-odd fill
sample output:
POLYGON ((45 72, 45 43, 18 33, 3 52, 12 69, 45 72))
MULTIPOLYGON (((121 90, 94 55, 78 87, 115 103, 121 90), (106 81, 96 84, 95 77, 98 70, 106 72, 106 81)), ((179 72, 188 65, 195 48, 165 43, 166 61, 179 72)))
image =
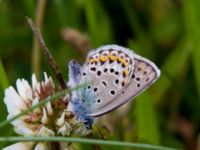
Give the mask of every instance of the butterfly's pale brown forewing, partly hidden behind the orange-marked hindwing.
POLYGON ((112 99, 104 107, 96 108, 89 114, 90 116, 101 116, 134 99, 159 78, 160 70, 150 60, 135 54, 134 62, 134 70, 129 85, 123 89, 118 97, 112 99))

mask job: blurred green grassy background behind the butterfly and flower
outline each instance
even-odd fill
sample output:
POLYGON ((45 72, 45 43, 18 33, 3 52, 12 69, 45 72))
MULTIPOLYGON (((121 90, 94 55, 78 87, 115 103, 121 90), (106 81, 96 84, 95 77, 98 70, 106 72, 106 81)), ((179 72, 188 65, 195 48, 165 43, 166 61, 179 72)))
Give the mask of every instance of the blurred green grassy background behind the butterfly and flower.
MULTIPOLYGON (((161 78, 125 115, 107 118, 112 130, 96 125, 107 139, 200 149, 199 8, 198 0, 0 0, 0 121, 7 116, 5 88, 18 78, 31 81, 33 72, 53 76, 33 42, 29 16, 66 80, 69 60, 83 63, 89 47, 104 44, 133 49, 161 69, 161 78)), ((12 135, 11 126, 0 135, 12 135)))

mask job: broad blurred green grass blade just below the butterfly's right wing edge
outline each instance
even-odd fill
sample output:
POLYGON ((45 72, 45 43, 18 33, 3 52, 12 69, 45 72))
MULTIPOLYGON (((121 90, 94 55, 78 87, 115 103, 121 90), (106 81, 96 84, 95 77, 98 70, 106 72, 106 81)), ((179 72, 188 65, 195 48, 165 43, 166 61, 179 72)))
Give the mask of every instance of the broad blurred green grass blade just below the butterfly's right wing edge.
POLYGON ((137 98, 135 107, 139 139, 153 144, 161 144, 156 111, 153 99, 148 91, 137 98))

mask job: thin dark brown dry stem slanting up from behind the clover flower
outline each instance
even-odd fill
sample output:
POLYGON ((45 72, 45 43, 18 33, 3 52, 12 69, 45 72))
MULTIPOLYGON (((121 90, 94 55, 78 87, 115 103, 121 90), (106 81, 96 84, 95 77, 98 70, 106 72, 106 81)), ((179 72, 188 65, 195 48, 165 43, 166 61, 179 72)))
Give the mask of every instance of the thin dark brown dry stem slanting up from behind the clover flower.
POLYGON ((58 69, 58 66, 56 65, 56 61, 54 60, 53 56, 51 55, 48 47, 46 46, 46 43, 44 42, 44 39, 42 38, 42 35, 40 33, 40 30, 37 28, 37 26, 33 23, 31 18, 26 17, 26 20, 28 22, 28 25, 30 26, 31 30, 33 31, 33 34, 36 38, 36 40, 38 41, 43 54, 45 55, 45 57, 47 58, 47 61, 53 71, 53 73, 55 74, 60 86, 62 89, 66 89, 67 85, 65 83, 65 80, 63 78, 62 73, 60 72, 60 70, 58 69))

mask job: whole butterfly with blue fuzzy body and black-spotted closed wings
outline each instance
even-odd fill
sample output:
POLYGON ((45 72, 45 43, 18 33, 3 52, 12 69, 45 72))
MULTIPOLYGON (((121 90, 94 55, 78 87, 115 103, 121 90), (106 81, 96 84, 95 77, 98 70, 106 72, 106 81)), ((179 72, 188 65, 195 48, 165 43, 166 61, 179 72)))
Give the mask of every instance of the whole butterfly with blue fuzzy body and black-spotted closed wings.
POLYGON ((93 118, 133 100, 160 77, 150 60, 118 45, 105 45, 89 52, 80 66, 69 63, 69 87, 88 83, 72 91, 70 102, 78 119, 90 128, 93 118))

